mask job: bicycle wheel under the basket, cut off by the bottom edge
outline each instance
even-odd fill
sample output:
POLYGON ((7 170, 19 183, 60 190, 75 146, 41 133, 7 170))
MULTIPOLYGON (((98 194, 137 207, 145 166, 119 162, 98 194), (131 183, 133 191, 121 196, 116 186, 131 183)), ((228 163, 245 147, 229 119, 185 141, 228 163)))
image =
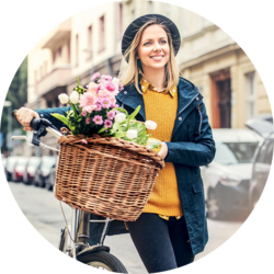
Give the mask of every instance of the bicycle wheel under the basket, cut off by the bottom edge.
POLYGON ((77 256, 77 262, 107 273, 127 274, 122 262, 106 251, 85 252, 77 256))

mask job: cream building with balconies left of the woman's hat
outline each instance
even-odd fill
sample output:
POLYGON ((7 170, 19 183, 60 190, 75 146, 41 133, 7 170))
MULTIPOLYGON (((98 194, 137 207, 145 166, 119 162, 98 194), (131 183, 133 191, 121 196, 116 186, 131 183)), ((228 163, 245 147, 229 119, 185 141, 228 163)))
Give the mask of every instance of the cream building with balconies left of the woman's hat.
MULTIPOLYGON (((28 90, 26 107, 32 110, 61 106, 60 93, 70 95, 77 77, 84 87, 94 72, 117 77, 123 35, 121 1, 91 5, 55 24, 27 52, 28 90)), ((28 133, 32 135, 32 133, 28 133)), ((43 142, 57 148, 52 136, 43 142)), ((56 153, 27 149, 28 155, 56 153)))

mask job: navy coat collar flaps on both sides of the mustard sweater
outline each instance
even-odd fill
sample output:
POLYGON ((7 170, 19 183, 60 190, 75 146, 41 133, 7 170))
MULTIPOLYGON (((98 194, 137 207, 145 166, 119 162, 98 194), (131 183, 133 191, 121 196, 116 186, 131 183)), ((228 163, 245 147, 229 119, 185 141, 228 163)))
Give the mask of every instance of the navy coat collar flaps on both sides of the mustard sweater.
MULTIPOLYGON (((138 84, 139 89, 141 90, 140 83, 138 84)), ((195 105, 201 103, 203 95, 198 92, 197 88, 192 82, 180 77, 178 84, 178 96, 179 96, 179 102, 178 102, 176 121, 180 116, 181 119, 179 121, 183 122, 186 114, 185 110, 187 110, 187 107, 193 103, 194 100, 196 102, 195 105)), ((141 107, 139 114, 142 116, 144 121, 146 121, 142 94, 140 94, 137 91, 134 84, 124 87, 124 90, 116 95, 116 99, 119 102, 122 102, 122 104, 128 105, 133 110, 135 110, 138 105, 140 105, 141 107)))

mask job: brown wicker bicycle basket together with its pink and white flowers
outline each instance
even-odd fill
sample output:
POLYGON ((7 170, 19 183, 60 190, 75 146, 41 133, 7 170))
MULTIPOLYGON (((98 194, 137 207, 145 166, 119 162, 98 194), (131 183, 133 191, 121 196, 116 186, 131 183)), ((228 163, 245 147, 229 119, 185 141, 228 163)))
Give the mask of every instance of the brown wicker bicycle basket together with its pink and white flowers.
POLYGON ((59 138, 60 153, 55 197, 80 210, 118 220, 136 220, 149 198, 159 170, 161 141, 149 138, 152 121, 136 121, 140 105, 129 115, 116 104, 123 90, 118 79, 95 73, 70 96, 60 94, 71 110, 54 113, 70 129, 59 138))

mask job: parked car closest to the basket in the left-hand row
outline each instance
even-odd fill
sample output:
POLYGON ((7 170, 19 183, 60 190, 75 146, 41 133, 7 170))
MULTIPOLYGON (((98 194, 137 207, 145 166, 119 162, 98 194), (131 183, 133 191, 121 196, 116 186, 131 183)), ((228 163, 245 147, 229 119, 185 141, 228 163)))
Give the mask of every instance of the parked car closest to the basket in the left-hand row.
POLYGON ((57 156, 43 156, 41 164, 37 168, 34 184, 41 187, 45 187, 46 180, 49 176, 50 169, 55 167, 57 162, 57 156))

